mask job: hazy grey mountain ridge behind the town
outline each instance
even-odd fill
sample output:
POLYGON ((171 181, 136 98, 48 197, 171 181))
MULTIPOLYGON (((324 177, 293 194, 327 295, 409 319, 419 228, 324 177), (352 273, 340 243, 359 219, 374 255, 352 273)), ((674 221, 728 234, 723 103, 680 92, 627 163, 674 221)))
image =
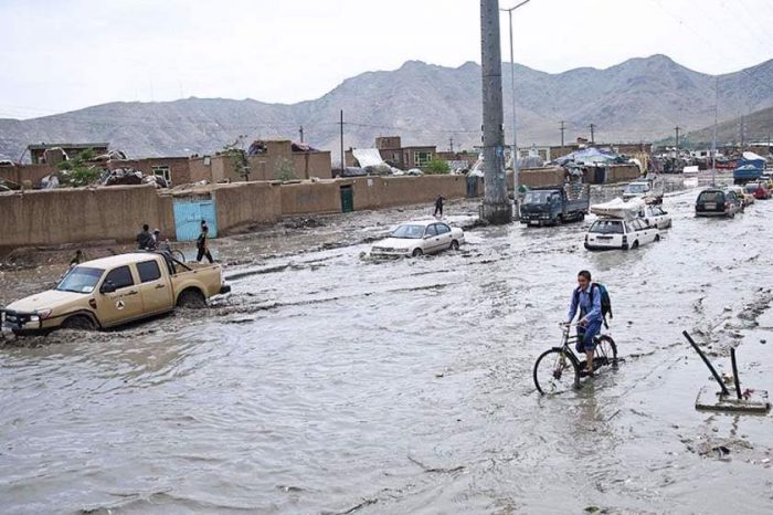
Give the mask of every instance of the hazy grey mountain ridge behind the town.
MULTIPOLYGON (((502 65, 505 127, 510 138, 510 73, 502 65)), ((110 141, 129 156, 210 154, 234 141, 283 137, 339 154, 339 111, 345 112, 345 146, 371 146, 381 135, 401 135, 405 145, 446 149, 480 144, 480 66, 445 67, 409 61, 399 70, 367 72, 326 95, 297 104, 254 99, 186 98, 173 102, 115 102, 28 120, 0 119, 0 153, 17 159, 32 143, 110 141)), ((773 60, 717 77, 688 70, 665 55, 625 61, 596 70, 559 74, 516 65, 518 141, 659 139, 713 123, 714 85, 719 117, 773 106, 773 60)))

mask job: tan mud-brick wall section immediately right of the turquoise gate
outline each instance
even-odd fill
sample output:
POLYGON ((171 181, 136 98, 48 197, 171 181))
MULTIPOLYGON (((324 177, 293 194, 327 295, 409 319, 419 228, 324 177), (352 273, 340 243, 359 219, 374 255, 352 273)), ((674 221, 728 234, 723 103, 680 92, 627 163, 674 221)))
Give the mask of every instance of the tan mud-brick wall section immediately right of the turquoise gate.
POLYGON ((282 190, 273 182, 234 182, 212 187, 218 230, 246 223, 274 223, 282 218, 282 190))

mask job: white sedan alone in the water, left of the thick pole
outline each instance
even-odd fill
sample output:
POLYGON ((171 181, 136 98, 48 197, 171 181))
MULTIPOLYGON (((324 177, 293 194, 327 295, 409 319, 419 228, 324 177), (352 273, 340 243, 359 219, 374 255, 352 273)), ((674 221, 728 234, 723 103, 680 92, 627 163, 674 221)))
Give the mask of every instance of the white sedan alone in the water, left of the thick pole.
POLYGON ((464 243, 464 231, 447 223, 431 220, 407 222, 395 229, 385 240, 370 249, 373 258, 419 256, 445 249, 457 250, 464 243))

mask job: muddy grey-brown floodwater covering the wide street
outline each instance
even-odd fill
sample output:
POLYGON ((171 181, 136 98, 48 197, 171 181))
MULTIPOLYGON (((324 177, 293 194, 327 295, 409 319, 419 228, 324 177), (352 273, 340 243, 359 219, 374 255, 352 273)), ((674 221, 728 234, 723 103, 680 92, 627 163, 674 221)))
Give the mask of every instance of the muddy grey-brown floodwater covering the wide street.
POLYGON ((635 251, 586 252, 590 218, 416 260, 342 246, 232 270, 203 312, 2 346, 0 511, 770 513, 770 416, 696 411, 680 333, 727 371, 740 343, 742 385, 773 390, 773 202, 707 220, 696 195, 635 251), (624 361, 540 397, 581 269, 624 361))

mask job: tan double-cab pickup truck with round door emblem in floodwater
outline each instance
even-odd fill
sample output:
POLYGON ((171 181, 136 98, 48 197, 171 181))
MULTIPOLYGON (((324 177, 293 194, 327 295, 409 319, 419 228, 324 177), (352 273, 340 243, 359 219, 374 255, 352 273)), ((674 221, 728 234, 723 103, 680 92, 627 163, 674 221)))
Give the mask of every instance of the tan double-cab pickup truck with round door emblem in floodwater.
POLYGON ((54 290, 0 309, 2 327, 15 334, 56 328, 96 329, 170 312, 203 307, 227 293, 218 264, 181 263, 168 254, 136 252, 72 267, 54 290))

